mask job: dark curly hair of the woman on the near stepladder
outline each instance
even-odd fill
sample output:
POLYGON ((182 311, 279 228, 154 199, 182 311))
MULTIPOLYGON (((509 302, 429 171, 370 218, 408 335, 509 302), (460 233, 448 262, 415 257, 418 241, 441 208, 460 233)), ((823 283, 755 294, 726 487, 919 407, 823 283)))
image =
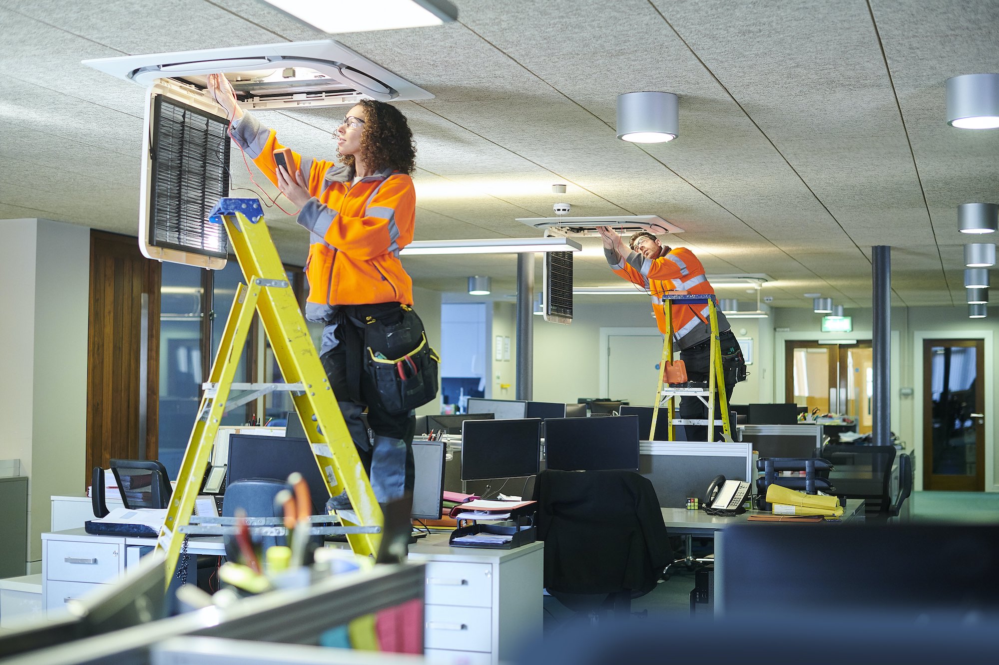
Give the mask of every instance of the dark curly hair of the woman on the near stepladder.
MULTIPOLYGON (((416 169, 417 146, 406 116, 391 104, 371 99, 361 100, 355 106, 364 107, 366 112, 361 154, 368 166, 412 174, 416 169)), ((338 156, 343 164, 354 166, 354 155, 338 153, 338 156)))

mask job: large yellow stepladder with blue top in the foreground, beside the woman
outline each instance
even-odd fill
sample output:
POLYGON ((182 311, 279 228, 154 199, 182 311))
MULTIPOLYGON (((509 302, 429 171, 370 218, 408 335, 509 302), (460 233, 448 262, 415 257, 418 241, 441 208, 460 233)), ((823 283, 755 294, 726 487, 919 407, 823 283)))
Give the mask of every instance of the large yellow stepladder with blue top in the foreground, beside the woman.
MULTIPOLYGON (((319 352, 306 328, 305 318, 264 222, 260 201, 221 199, 212 209, 209 220, 217 224, 225 223, 246 284, 241 284, 236 290, 233 308, 201 399, 198 419, 181 462, 177 489, 170 499, 167 517, 156 541, 156 549, 166 555, 168 585, 176 570, 184 540, 179 529, 189 523, 194 511, 195 498, 201 489, 219 421, 233 388, 233 377, 255 312, 260 313, 275 358, 288 381, 278 385, 292 390, 295 408, 330 495, 347 490, 358 515, 357 526, 383 525, 382 507, 375 499, 375 492, 344 422, 319 352)), ((344 523, 355 526, 350 522, 344 523)), ((347 538, 355 553, 372 555, 378 551, 382 534, 348 533, 347 538)))

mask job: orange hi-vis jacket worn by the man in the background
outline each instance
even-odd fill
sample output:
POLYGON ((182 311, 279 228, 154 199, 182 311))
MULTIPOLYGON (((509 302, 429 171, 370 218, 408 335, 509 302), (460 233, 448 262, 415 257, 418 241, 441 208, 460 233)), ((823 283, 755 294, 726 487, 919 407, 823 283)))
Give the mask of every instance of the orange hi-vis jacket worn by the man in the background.
MULTIPOLYGON (((604 250, 604 256, 614 273, 651 295, 652 313, 660 333, 666 333, 666 301, 663 297, 667 291, 685 291, 691 295, 714 294, 704 276, 704 267, 686 248, 676 248, 657 259, 645 259, 637 252, 620 257, 613 249, 604 250)), ((729 329, 728 320, 720 310, 716 312, 718 333, 724 333, 729 329)), ((672 305, 673 340, 677 348, 683 350, 710 338, 711 329, 705 323, 707 315, 706 304, 672 305)))

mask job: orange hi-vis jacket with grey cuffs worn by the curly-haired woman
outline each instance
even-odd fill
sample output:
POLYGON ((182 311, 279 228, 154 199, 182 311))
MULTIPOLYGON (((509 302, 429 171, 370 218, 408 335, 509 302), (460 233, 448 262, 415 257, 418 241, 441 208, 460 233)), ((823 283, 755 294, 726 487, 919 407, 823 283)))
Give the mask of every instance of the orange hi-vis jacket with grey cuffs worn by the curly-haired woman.
MULTIPOLYGON (((244 113, 233 139, 277 184, 274 152, 284 146, 274 130, 244 113)), ((295 177, 313 196, 298 218, 310 233, 306 319, 329 322, 338 305, 413 305, 413 279, 399 260, 413 241, 413 179, 387 169, 353 183, 353 168, 294 156, 295 177)))

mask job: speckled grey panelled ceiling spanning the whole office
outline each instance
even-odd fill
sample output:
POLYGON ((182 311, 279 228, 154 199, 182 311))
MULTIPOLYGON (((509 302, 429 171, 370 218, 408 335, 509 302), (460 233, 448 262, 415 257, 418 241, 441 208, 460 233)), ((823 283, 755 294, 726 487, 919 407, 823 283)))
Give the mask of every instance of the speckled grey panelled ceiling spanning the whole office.
MULTIPOLYGON (((956 209, 999 202, 999 130, 948 127, 944 81, 999 72, 999 3, 453 1, 445 26, 330 35, 436 96, 400 104, 418 140, 418 240, 536 236, 515 218, 564 201, 577 216, 659 215, 685 230, 663 240, 709 274, 770 276, 775 307, 807 307, 805 293, 870 307, 876 245, 892 248, 894 305, 964 304, 962 245, 982 239, 958 233, 956 209), (615 98, 638 90, 679 96, 678 139, 615 138, 615 98)), ((80 61, 328 36, 257 0, 2 0, 0 24, 0 220, 131 235, 143 91, 80 61)), ((259 117, 332 158, 343 115, 259 117)), ((234 186, 252 188, 235 153, 234 186)), ((306 233, 269 222, 301 263, 306 233)), ((582 242, 576 285, 616 284, 598 241, 582 242)), ((443 292, 471 275, 515 286, 512 256, 405 265, 443 292)))

